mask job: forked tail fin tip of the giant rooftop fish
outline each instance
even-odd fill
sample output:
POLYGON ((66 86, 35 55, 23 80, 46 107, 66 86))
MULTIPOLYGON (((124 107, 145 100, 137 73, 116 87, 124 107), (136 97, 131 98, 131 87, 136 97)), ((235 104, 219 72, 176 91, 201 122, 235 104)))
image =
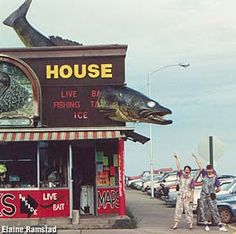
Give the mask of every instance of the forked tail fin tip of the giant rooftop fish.
POLYGON ((26 0, 17 10, 9 15, 3 23, 7 26, 13 27, 17 19, 25 17, 30 7, 32 0, 26 0))

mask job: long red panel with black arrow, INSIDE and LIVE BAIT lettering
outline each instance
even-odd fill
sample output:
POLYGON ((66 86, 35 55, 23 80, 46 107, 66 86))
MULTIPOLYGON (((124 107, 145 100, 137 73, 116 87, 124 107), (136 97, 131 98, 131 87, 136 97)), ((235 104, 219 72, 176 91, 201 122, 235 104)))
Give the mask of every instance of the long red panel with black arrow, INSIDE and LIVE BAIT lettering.
POLYGON ((0 218, 69 216, 69 190, 18 190, 0 192, 0 218))

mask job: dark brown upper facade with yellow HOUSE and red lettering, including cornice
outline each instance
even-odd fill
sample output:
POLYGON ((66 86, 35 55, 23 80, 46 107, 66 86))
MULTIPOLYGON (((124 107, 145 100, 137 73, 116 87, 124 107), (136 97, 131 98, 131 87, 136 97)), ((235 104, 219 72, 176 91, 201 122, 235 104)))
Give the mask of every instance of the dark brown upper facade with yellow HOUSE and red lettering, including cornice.
MULTIPOLYGON (((97 97, 104 86, 123 86, 127 46, 70 46, 0 49, 26 63, 41 88, 43 127, 123 126, 104 118, 97 97)), ((1 61, 0 61, 1 63, 1 61)))

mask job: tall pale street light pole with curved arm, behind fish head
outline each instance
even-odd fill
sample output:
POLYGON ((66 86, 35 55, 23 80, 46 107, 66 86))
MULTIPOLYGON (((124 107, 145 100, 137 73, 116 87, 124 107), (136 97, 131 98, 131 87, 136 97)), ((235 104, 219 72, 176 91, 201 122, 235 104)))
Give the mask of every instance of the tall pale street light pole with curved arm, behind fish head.
MULTIPOLYGON (((183 64, 183 63, 178 63, 178 64, 170 64, 166 66, 159 67, 151 72, 148 73, 148 81, 147 81, 147 86, 148 86, 148 96, 151 98, 151 77, 154 75, 156 72, 168 68, 168 67, 183 67, 186 68, 190 66, 189 63, 183 64)), ((150 138, 150 174, 151 174, 151 198, 154 198, 154 180, 153 180, 153 141, 152 141, 152 124, 149 124, 149 138, 150 138)))

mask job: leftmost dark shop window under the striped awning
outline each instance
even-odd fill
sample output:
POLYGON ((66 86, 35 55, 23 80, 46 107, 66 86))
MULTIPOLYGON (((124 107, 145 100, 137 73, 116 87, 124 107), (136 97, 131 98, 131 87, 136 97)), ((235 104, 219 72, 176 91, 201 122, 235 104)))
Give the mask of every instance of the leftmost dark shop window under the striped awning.
POLYGON ((4 143, 0 145, 0 186, 31 188, 37 186, 37 145, 4 143))

